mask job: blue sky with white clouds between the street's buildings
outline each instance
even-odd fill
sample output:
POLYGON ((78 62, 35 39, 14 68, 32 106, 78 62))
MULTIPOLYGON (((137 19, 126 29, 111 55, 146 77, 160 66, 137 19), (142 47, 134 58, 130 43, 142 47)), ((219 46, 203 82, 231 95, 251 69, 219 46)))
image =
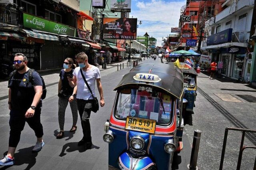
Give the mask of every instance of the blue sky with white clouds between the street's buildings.
MULTIPOLYGON (((137 36, 146 32, 157 39, 158 46, 162 37, 171 34, 171 27, 178 27, 180 8, 186 0, 131 0, 130 18, 138 18, 137 36)), ((173 33, 172 33, 173 34, 173 33)))

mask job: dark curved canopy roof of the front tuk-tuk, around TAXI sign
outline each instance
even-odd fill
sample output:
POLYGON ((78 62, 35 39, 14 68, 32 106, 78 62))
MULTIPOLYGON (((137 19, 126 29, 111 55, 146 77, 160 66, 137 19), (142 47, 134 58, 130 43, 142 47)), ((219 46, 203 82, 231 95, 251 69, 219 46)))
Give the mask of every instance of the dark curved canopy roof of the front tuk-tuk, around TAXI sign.
POLYGON ((153 86, 159 88, 166 93, 174 95, 177 98, 180 98, 183 93, 183 75, 181 70, 172 65, 164 63, 143 63, 134 67, 129 73, 124 75, 120 83, 115 87, 114 91, 118 89, 124 89, 130 87, 131 85, 145 85, 153 86), (148 82, 148 81, 139 81, 136 79, 136 74, 148 74, 157 75, 160 78, 160 81, 148 82))

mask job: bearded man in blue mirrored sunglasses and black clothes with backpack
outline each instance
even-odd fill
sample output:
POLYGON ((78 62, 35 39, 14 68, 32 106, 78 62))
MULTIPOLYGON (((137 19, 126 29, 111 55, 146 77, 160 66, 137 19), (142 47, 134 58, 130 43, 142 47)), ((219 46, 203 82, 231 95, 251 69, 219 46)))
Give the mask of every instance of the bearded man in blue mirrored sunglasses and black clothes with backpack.
POLYGON ((34 130, 37 141, 32 149, 38 152, 44 146, 42 140, 43 126, 40 122, 42 109, 42 79, 36 71, 30 72, 28 59, 22 53, 16 53, 14 57, 15 71, 10 75, 8 81, 9 95, 8 105, 10 109, 10 137, 8 153, 2 160, 1 166, 14 164, 14 152, 20 141, 20 134, 25 122, 34 130), (29 76, 28 73, 31 73, 29 76))

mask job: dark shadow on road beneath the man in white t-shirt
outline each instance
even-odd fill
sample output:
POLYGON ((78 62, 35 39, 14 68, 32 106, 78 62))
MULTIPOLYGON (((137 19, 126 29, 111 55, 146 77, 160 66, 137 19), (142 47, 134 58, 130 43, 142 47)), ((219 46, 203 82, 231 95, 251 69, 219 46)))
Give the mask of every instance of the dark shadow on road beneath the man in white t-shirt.
MULTIPOLYGON (((62 151, 60 153, 60 157, 65 156, 66 152, 74 152, 76 150, 78 150, 78 152, 85 152, 87 149, 84 146, 77 146, 78 142, 69 142, 64 144, 64 146, 62 147, 62 151)), ((92 148, 90 149, 99 149, 99 146, 95 146, 94 144, 92 144, 92 148)))

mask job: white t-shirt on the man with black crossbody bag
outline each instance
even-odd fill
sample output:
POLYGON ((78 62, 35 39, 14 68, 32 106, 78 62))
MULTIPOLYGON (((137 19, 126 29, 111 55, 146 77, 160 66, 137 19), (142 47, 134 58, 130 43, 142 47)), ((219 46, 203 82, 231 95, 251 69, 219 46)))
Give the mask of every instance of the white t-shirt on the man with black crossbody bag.
MULTIPOLYGON (((95 80, 101 78, 100 70, 98 69, 98 67, 95 67, 94 65, 92 65, 90 70, 88 70, 88 71, 82 70, 82 72, 84 74, 84 77, 85 77, 88 85, 90 86, 90 88, 92 90, 92 94, 95 96, 95 80)), ((84 100, 93 99, 92 94, 90 93, 90 90, 87 88, 86 84, 84 83, 84 79, 80 72, 80 67, 75 68, 73 75, 76 76, 76 85, 77 85, 76 98, 84 99, 84 100)))

